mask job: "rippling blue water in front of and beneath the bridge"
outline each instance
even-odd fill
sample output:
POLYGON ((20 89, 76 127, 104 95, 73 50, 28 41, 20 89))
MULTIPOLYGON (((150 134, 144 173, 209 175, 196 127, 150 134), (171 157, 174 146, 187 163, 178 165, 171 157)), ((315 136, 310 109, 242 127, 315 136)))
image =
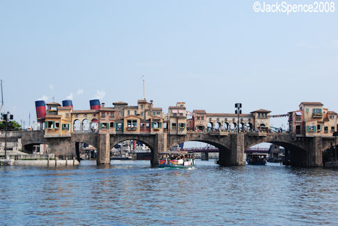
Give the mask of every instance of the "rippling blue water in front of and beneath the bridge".
POLYGON ((338 224, 335 169, 149 165, 1 167, 0 225, 338 224))

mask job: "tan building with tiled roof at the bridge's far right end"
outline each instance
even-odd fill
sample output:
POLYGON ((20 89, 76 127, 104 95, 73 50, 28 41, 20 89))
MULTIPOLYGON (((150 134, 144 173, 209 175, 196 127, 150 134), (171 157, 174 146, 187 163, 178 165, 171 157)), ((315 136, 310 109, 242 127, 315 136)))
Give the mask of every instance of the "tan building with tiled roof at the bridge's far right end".
POLYGON ((299 110, 289 112, 289 131, 293 135, 332 136, 337 126, 337 113, 320 102, 302 102, 299 110))

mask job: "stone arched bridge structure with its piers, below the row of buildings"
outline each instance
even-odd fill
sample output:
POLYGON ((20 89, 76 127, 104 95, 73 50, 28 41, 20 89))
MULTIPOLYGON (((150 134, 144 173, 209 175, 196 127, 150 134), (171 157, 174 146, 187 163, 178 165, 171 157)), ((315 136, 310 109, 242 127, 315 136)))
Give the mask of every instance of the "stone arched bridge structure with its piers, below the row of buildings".
POLYGON ((269 142, 284 146, 286 157, 290 159, 290 164, 293 166, 320 167, 323 166, 323 151, 337 142, 335 137, 293 137, 288 133, 188 132, 185 135, 72 133, 69 137, 54 138, 45 138, 43 130, 22 133, 23 149, 33 144, 48 144, 49 150, 56 156, 78 155, 79 143, 91 144, 98 151, 98 164, 109 164, 110 150, 125 140, 138 140, 149 146, 153 166, 158 164, 158 153, 169 150, 175 144, 198 141, 217 147, 220 150, 219 164, 223 166, 245 165, 246 149, 255 144, 269 142))

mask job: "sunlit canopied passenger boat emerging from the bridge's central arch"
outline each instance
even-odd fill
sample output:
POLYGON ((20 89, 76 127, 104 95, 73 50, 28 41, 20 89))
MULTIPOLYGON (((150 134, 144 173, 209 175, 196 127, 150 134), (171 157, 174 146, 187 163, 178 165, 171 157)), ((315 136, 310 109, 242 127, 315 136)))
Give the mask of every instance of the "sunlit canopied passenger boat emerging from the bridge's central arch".
POLYGON ((159 154, 159 167, 192 167, 193 165, 195 165, 194 154, 187 154, 182 151, 159 154))

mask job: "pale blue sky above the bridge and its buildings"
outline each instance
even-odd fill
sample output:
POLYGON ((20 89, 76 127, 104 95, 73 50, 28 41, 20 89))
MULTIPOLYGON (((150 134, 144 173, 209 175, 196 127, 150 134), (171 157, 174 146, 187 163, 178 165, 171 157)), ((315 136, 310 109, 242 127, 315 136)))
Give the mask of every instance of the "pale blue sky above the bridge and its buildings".
POLYGON ((75 110, 92 98, 136 105, 144 75, 146 98, 166 113, 178 101, 271 114, 320 101, 338 112, 338 9, 255 13, 253 3, 0 0, 5 110, 27 126, 40 99, 72 98, 75 110))

